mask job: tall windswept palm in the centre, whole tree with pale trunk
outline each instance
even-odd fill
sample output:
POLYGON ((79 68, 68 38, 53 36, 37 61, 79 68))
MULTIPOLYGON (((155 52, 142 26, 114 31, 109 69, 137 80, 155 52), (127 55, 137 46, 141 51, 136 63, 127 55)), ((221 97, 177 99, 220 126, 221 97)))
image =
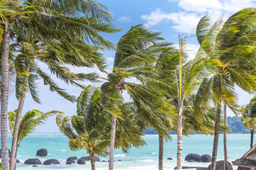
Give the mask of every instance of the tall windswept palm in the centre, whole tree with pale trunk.
POLYGON ((101 86, 102 105, 112 114, 110 170, 113 169, 114 163, 116 120, 122 118, 117 103, 124 100, 123 91, 127 91, 131 96, 137 112, 143 119, 148 120, 151 125, 159 123, 158 117, 164 104, 159 96, 150 92, 150 86, 161 84, 152 76, 157 72, 154 63, 163 49, 166 49, 166 43, 157 43, 158 40, 162 40, 159 33, 152 33, 142 25, 133 26, 117 43, 113 72, 108 74, 107 82, 101 86), (131 79, 136 79, 137 83, 130 81, 131 79))

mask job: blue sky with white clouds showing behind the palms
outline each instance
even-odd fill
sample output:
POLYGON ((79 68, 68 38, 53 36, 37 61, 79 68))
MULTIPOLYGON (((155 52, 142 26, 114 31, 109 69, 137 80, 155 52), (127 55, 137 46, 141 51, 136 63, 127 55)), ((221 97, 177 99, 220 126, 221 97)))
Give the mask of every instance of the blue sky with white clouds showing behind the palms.
MULTIPOLYGON (((200 18, 209 14, 213 21, 223 17, 227 19, 236 11, 242 8, 255 7, 256 1, 252 0, 101 0, 98 1, 107 6, 114 16, 113 23, 122 31, 114 34, 104 35, 107 40, 117 43, 119 38, 126 33, 129 28, 137 24, 144 23, 149 30, 161 32, 162 37, 169 42, 178 42, 178 35, 191 35, 188 39, 188 55, 193 58, 198 49, 196 38, 193 37, 195 28, 200 18)), ((106 50, 104 56, 110 65, 114 61, 114 52, 106 50)), ((46 66, 42 65, 44 69, 46 66)), ((98 72, 97 69, 72 68, 74 72, 98 72)), ((104 74, 100 73, 102 76, 104 74)), ((73 86, 67 86, 61 81, 56 80, 70 94, 79 96, 81 89, 73 86)), ((85 82, 85 84, 89 84, 85 82)), ((100 86, 100 84, 96 84, 100 86)), ((65 115, 74 115, 76 113, 75 103, 70 103, 61 98, 55 92, 50 92, 48 86, 40 84, 40 97, 42 104, 35 103, 30 94, 27 94, 23 113, 31 109, 38 109, 43 112, 58 110, 65 112, 65 115)), ((238 89, 240 104, 244 105, 250 101, 252 96, 245 94, 238 89)), ((9 111, 13 111, 18 107, 18 101, 15 98, 14 91, 11 92, 9 99, 9 111)), ((228 111, 228 115, 233 115, 228 111)), ((38 127, 36 132, 59 132, 55 125, 55 118, 50 118, 45 125, 38 127)))

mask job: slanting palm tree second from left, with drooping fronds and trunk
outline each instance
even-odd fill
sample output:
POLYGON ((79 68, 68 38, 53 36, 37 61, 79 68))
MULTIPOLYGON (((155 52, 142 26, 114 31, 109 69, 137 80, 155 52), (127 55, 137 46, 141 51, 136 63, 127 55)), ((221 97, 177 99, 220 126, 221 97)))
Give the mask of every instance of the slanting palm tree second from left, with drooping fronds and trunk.
MULTIPOLYGON (((12 143, 12 152, 11 152, 11 168, 14 161, 14 156, 16 155, 16 142, 18 139, 18 127, 19 123, 21 121, 21 113, 23 110, 23 104, 25 101, 26 91, 31 91, 31 96, 34 99, 34 101, 40 103, 40 100, 38 98, 38 92, 37 92, 37 86, 36 86, 36 80, 39 77, 45 81, 45 84, 48 84, 50 86, 51 91, 56 91, 60 96, 63 96, 64 98, 74 102, 75 97, 70 96, 65 92, 64 89, 61 89, 55 82, 50 79, 48 74, 44 72, 41 67, 39 66, 40 63, 44 63, 48 66, 50 69, 50 72, 53 74, 56 74, 56 76, 59 79, 62 79, 68 84, 73 84, 75 86, 80 86, 83 89, 82 85, 78 84, 76 81, 81 80, 90 80, 90 81, 96 81, 95 77, 96 74, 75 74, 73 72, 70 72, 68 67, 65 67, 61 62, 57 60, 58 56, 62 52, 54 52, 53 50, 50 50, 48 47, 48 44, 45 44, 43 42, 38 42, 35 38, 27 35, 26 38, 24 38, 22 35, 16 35, 16 42, 11 44, 12 52, 16 54, 14 62, 11 62, 11 65, 13 65, 15 71, 16 71, 16 97, 19 101, 18 103, 18 111, 17 111, 17 118, 16 123, 14 126, 14 137, 13 137, 13 143, 12 143)), ((75 42, 75 39, 74 39, 75 42)), ((97 64, 98 67, 104 67, 102 64, 104 64, 104 60, 102 59, 101 55, 96 51, 96 47, 91 47, 90 45, 85 45, 81 47, 76 47, 75 50, 87 50, 87 55, 84 55, 84 57, 80 57, 83 61, 80 62, 79 66, 84 65, 85 67, 93 67, 94 64, 97 64), (90 53, 94 53, 94 56, 90 56, 90 53)), ((72 52, 68 56, 65 54, 63 55, 63 60, 68 60, 65 58, 70 57, 78 57, 78 55, 73 55, 72 52)), ((74 64, 76 65, 76 64, 74 64)), ((12 68, 12 67, 11 67, 12 68)))

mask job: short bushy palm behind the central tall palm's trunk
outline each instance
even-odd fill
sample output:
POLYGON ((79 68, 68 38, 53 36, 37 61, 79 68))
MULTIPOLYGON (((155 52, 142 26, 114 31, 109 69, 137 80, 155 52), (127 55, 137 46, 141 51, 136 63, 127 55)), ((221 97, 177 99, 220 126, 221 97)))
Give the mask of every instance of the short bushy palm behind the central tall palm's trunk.
MULTIPOLYGON (((71 118, 58 115, 56 118, 60 131, 70 139, 70 149, 85 149, 90 155, 92 170, 95 170, 95 154, 106 156, 107 147, 110 145, 111 115, 103 109, 100 98, 99 89, 82 91, 78 98, 78 115, 71 118)), ((122 150, 127 152, 132 145, 139 147, 145 144, 142 140, 144 130, 134 123, 136 116, 132 113, 131 103, 123 103, 119 107, 125 117, 123 120, 117 120, 115 147, 122 147, 122 150)))

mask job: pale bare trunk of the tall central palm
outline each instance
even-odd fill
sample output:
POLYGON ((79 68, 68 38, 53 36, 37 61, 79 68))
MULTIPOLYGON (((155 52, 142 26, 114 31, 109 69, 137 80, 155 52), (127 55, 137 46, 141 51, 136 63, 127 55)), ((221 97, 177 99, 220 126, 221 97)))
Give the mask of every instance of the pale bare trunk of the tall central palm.
POLYGON ((110 162, 109 170, 114 169, 114 137, 117 124, 117 117, 112 115, 112 124, 111 124, 111 135, 110 135, 110 162))

